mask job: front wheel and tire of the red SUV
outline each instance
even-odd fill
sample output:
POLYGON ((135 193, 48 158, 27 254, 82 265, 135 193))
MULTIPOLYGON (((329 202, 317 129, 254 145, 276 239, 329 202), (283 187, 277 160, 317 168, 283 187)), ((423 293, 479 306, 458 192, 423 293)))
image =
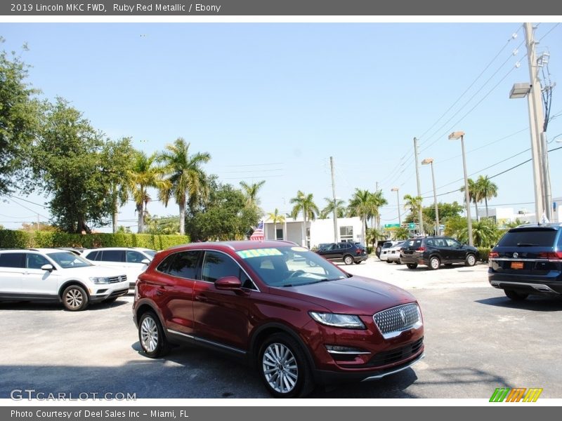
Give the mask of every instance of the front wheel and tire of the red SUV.
POLYGON ((258 367, 266 389, 276 398, 304 397, 314 389, 306 355, 285 333, 275 333, 263 342, 258 367))

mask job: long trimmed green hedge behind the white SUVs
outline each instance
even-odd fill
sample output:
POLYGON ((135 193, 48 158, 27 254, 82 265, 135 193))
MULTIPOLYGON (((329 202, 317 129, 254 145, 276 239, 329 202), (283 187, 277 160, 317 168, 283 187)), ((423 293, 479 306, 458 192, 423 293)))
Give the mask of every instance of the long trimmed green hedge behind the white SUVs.
POLYGON ((143 247, 164 250, 189 243, 189 236, 152 234, 67 234, 66 232, 0 229, 0 248, 143 247))

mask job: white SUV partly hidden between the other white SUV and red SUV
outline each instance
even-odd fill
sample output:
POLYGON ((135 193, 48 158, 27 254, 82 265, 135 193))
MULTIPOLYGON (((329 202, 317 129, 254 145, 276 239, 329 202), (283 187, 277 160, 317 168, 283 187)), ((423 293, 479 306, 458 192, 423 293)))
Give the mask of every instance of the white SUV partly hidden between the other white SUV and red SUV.
POLYGON ((137 247, 105 247, 84 250, 81 254, 94 265, 121 269, 129 279, 129 287, 135 288, 138 275, 145 272, 156 255, 155 250, 137 247))

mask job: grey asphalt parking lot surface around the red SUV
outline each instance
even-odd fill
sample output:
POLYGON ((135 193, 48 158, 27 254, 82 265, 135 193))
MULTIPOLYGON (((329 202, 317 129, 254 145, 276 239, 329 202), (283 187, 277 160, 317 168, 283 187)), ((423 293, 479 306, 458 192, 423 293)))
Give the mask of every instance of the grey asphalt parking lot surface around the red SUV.
MULTIPOLYGON (((542 387, 562 398, 561 298, 511 302, 489 286, 487 266, 410 270, 370 259, 345 266, 410 290, 425 323, 426 358, 376 382, 318 389, 326 398, 481 398, 496 387, 542 387)), ((139 354, 133 297, 85 312, 0 303, 0 399, 44 393, 135 393, 139 398, 269 398, 256 373, 219 354, 178 347, 165 359, 139 354)))

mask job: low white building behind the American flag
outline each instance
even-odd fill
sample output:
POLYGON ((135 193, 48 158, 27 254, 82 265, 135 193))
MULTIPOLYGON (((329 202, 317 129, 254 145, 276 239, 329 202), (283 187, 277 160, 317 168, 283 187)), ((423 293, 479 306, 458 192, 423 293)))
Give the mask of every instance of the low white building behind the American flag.
MULTIPOLYGON (((362 238, 361 220, 354 218, 338 218, 337 241, 358 241, 365 243, 362 238)), ((320 243, 334 242, 334 220, 306 221, 306 230, 302 218, 285 218, 285 222, 276 226, 271 220, 264 220, 263 232, 266 240, 288 240, 312 248, 320 243), (275 232, 277 229, 277 232, 275 232), (306 232, 306 234, 305 234, 306 232), (305 240, 306 235, 306 240, 305 240)))

